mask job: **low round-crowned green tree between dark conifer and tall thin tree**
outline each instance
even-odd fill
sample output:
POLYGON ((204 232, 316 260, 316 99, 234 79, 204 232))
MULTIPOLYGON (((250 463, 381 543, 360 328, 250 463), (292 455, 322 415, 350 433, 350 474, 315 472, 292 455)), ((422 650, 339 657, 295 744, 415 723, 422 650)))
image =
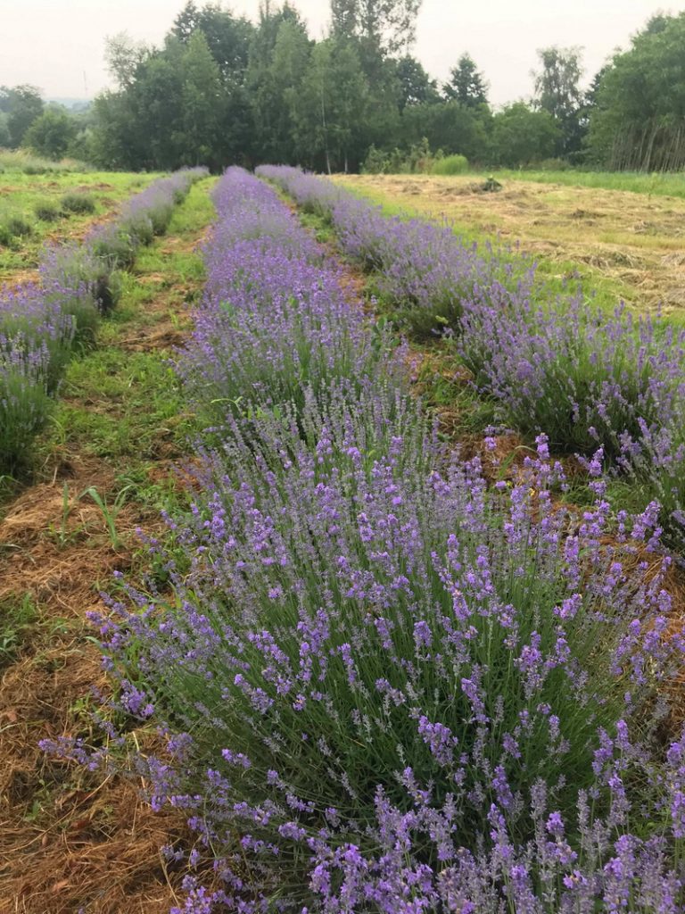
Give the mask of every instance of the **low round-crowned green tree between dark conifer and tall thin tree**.
POLYGON ((492 118, 493 164, 528 165, 549 158, 560 135, 549 112, 534 111, 524 101, 515 101, 492 118))

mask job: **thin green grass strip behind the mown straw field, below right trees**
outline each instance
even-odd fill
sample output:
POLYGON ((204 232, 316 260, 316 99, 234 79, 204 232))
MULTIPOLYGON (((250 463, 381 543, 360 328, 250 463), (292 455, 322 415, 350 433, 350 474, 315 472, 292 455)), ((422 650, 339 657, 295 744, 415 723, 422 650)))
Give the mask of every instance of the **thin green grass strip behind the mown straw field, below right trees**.
POLYGON ((595 187, 602 190, 626 190, 633 194, 655 197, 685 198, 685 174, 655 172, 585 172, 518 171, 499 169, 490 173, 498 180, 534 181, 538 184, 561 184, 566 187, 595 187))

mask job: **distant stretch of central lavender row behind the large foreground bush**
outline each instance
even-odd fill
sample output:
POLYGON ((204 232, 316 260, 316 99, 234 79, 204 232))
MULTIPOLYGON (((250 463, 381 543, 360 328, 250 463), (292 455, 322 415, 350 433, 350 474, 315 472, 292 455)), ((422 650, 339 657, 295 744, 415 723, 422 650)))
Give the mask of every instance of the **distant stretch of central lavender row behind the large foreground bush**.
POLYGON ((402 352, 388 329, 367 332, 338 272, 273 190, 231 169, 214 198, 203 306, 177 366, 205 420, 302 409, 305 391, 318 398, 336 382, 356 397, 381 371, 402 387, 402 352))

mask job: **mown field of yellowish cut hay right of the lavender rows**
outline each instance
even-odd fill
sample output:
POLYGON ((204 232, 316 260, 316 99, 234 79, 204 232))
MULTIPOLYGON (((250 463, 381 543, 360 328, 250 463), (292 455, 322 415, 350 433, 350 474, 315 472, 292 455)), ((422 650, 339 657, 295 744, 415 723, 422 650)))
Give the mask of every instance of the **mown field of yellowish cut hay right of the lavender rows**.
MULTIPOLYGON (((553 282, 580 274, 598 302, 619 299, 642 309, 662 306, 685 320, 685 199, 622 189, 567 186, 535 173, 497 173, 497 193, 482 193, 476 175, 338 175, 344 186, 389 213, 447 218, 468 239, 521 242, 553 282)), ((637 181, 638 175, 568 174, 637 181)), ((648 175, 643 179, 648 182, 648 175)), ((667 178, 664 178, 666 181, 667 178)), ((685 179, 671 176, 672 181, 685 179)), ((636 186, 638 186, 637 182, 636 186)), ((646 188, 643 187, 643 191, 646 188)))

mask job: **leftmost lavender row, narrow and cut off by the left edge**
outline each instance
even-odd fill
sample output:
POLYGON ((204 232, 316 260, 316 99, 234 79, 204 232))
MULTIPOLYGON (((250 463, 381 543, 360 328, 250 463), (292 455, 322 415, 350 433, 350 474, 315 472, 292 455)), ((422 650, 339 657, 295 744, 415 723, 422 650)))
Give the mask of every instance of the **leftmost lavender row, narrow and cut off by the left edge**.
POLYGON ((26 460, 74 343, 94 336, 119 297, 119 271, 205 174, 195 168, 153 182, 83 242, 48 246, 39 282, 0 290, 0 472, 26 460))

